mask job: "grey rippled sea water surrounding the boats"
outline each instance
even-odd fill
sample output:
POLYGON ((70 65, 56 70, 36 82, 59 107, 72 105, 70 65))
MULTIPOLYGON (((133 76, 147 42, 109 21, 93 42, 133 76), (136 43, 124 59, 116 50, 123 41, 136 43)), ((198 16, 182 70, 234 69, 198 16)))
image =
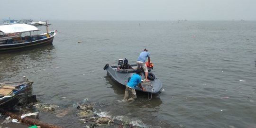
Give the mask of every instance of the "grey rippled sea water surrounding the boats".
POLYGON ((98 115, 145 128, 256 127, 256 21, 49 22, 53 46, 0 54, 1 82, 25 75, 38 100, 69 111, 41 121, 82 128, 73 104, 87 99, 98 115), (165 91, 119 103, 124 88, 103 66, 136 63, 144 48, 165 91))

